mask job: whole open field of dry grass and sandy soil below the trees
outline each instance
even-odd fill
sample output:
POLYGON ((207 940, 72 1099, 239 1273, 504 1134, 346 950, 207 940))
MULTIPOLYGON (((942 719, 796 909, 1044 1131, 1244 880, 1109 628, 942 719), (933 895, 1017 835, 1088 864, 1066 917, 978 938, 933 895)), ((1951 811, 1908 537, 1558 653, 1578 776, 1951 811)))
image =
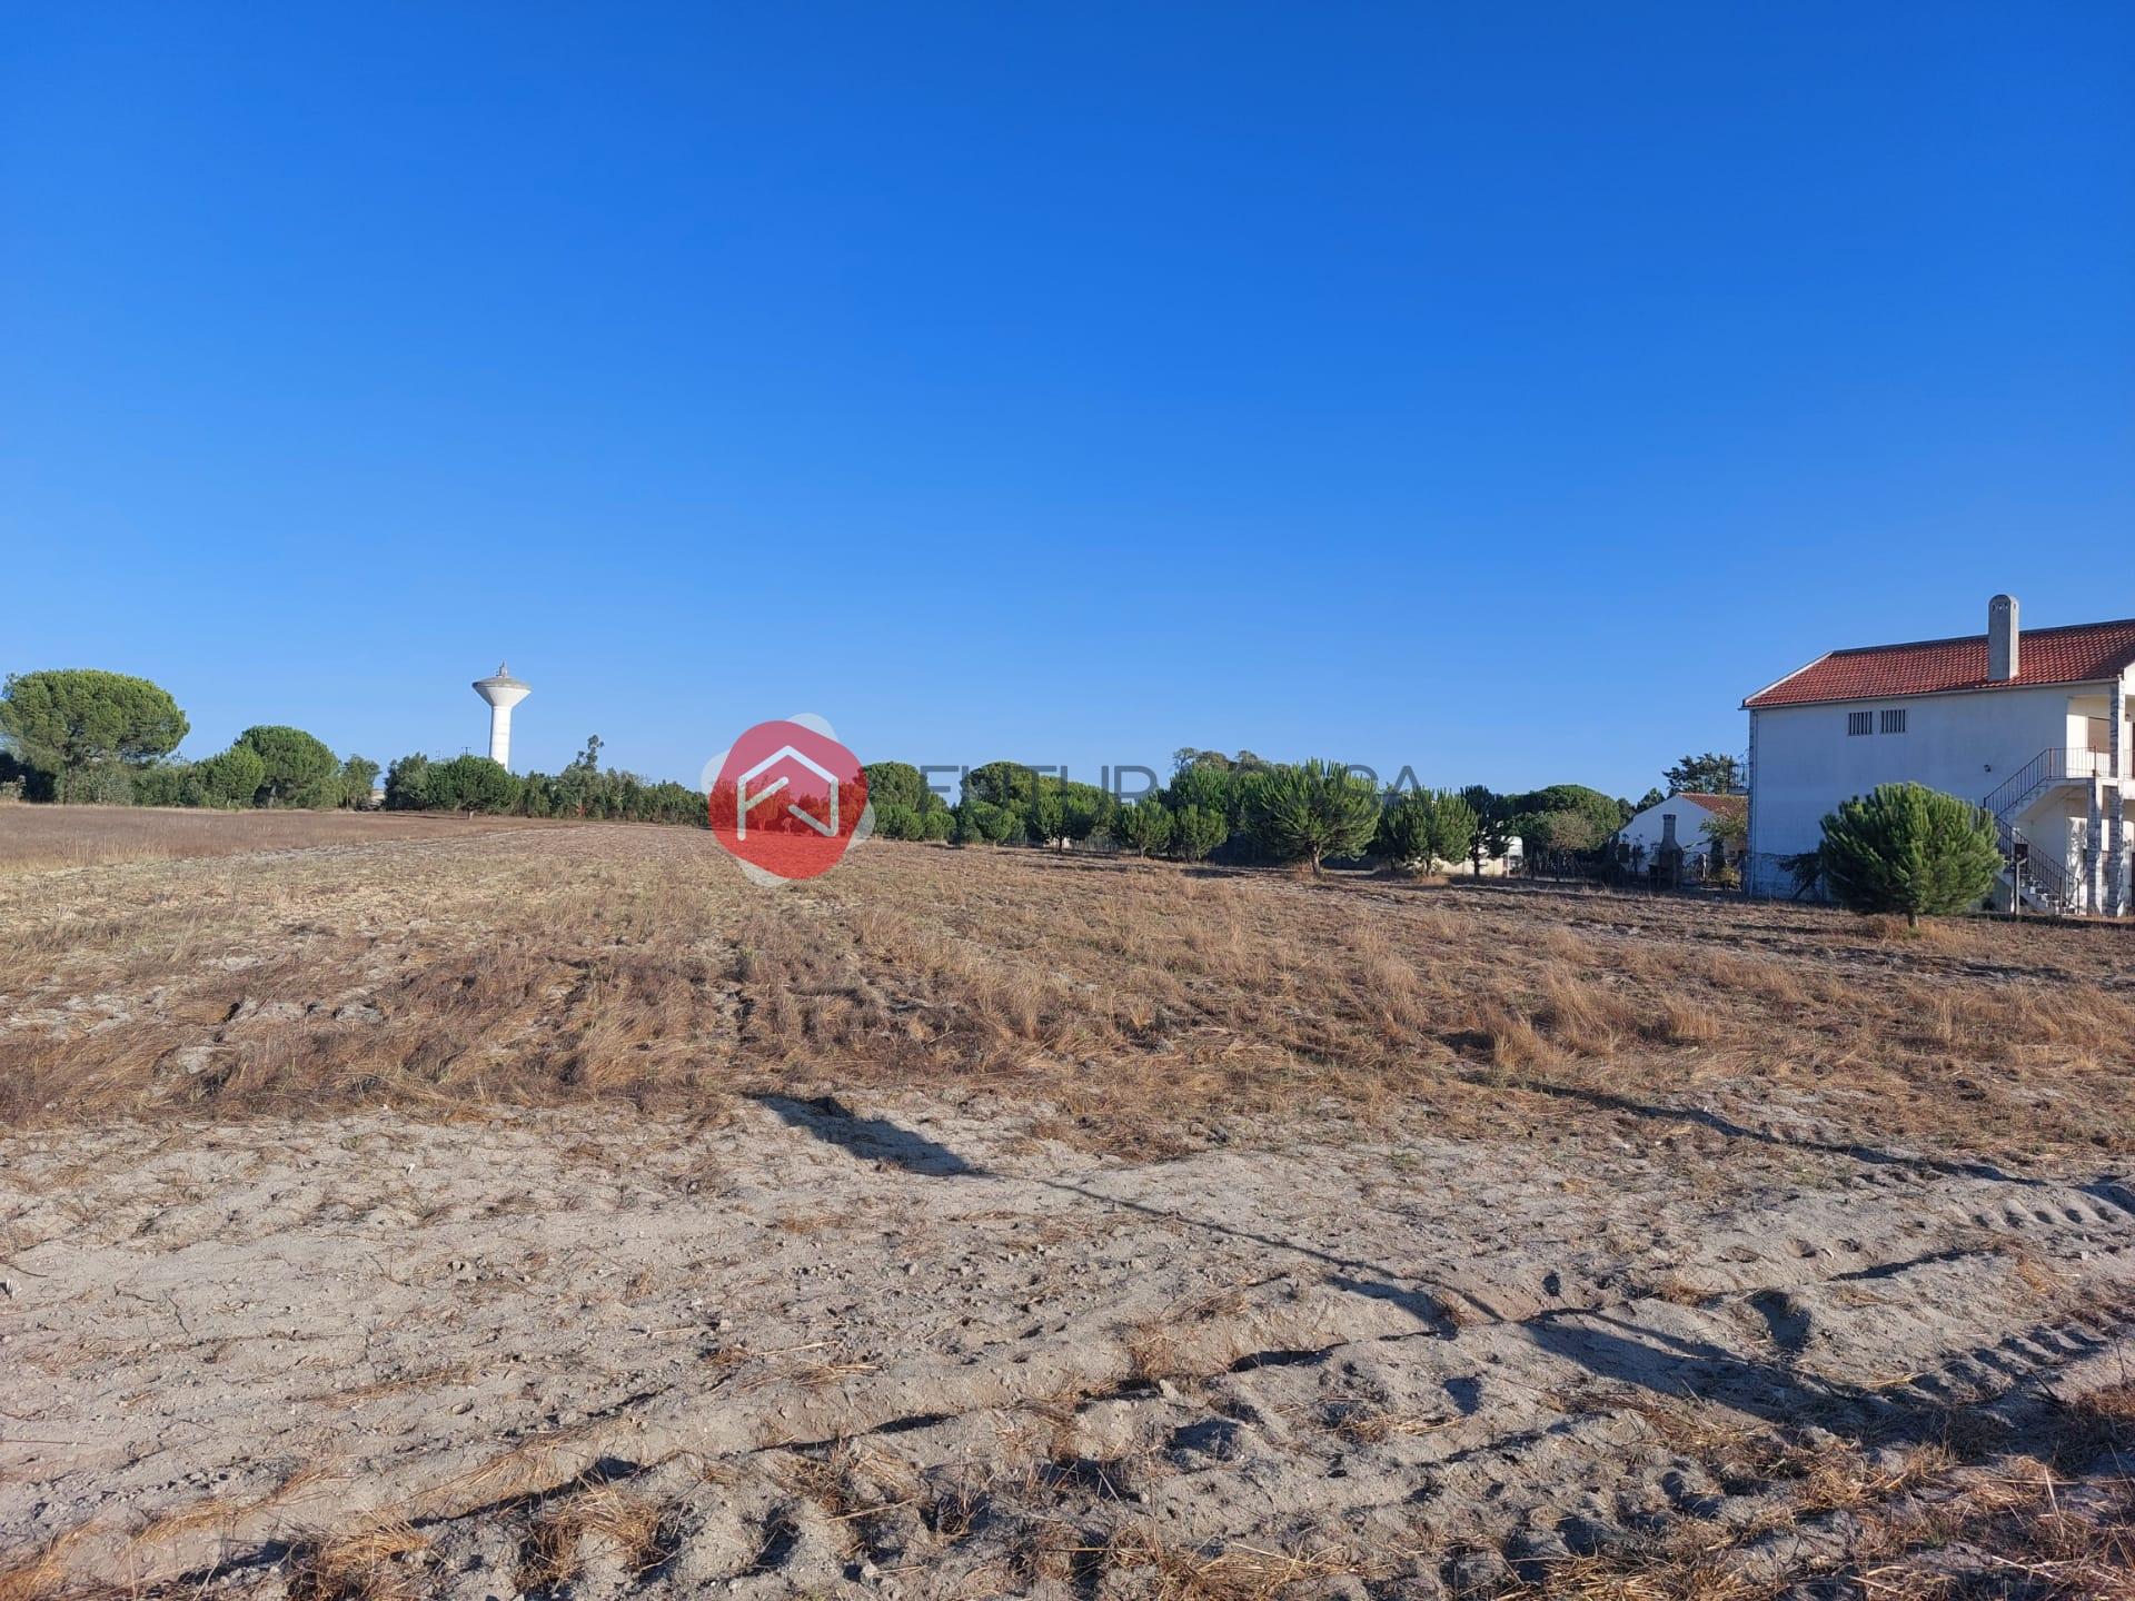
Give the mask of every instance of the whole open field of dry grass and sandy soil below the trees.
POLYGON ((2124 931, 164 815, 0 813, 0 1601, 2135 1595, 2124 931))

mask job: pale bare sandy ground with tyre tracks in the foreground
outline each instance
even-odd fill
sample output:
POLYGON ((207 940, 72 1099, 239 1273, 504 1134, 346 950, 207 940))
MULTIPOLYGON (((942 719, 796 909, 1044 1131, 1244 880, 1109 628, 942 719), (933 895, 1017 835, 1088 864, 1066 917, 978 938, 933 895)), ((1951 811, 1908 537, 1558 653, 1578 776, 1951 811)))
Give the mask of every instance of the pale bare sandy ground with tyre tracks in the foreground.
POLYGON ((655 1526, 581 1533, 572 1595, 1074 1595, 1123 1531, 1151 1582, 1243 1543, 1488 1595, 1682 1518, 1774 1571, 1843 1535, 1699 1428, 1898 1464, 2129 1377, 2124 1183, 1687 1121, 1740 1146, 1712 1195, 1635 1123, 1146 1166, 935 1099, 19 1136, 0 1537, 273 1588, 408 1520, 502 1601, 542 1507, 626 1486, 655 1526))

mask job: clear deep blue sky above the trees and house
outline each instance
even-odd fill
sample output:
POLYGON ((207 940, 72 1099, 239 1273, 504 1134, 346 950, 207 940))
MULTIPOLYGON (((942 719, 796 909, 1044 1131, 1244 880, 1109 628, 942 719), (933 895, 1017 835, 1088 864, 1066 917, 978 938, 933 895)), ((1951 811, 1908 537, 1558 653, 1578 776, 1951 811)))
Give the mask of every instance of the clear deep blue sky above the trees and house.
POLYGON ((1642 792, 2135 613, 2124 4, 11 4, 0 668, 1642 792))

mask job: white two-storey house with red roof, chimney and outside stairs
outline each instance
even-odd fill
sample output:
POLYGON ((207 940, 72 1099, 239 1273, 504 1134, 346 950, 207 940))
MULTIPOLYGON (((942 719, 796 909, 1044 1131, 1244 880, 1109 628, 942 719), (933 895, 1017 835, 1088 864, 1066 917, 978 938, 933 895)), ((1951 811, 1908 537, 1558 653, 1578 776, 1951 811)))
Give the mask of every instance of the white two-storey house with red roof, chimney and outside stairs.
POLYGON ((1909 779, 1994 813, 2028 905, 2124 916, 2131 689, 2135 619, 2024 632, 2009 596, 1986 634, 1819 655, 1742 702, 1751 892, 1791 894, 1828 811, 1909 779))

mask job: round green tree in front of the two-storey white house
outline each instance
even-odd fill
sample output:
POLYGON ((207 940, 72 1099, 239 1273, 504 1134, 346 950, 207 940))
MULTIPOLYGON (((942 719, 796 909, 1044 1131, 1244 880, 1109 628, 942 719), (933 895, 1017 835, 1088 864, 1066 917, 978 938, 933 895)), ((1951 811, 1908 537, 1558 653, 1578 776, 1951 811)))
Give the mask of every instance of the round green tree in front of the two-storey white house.
POLYGON ((1849 912, 1921 918, 1977 907, 2000 875, 1994 815, 1924 783, 1879 783, 1823 818, 1823 879, 1849 912))

